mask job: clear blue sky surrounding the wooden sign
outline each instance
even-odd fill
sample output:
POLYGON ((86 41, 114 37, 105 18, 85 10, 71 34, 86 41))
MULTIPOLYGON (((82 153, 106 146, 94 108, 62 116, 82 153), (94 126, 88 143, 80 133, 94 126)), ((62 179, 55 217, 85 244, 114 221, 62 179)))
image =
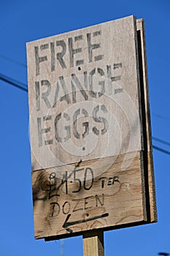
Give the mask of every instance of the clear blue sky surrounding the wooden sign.
MULTIPOLYGON (((27 86, 26 42, 128 15, 145 20, 152 135, 170 142, 168 0, 0 0, 0 73, 27 86)), ((0 254, 60 255, 61 241, 34 239, 28 94, 0 80, 0 96, 0 254)), ((170 253, 170 155, 153 150, 153 157, 158 223, 104 233, 106 256, 170 253)), ((64 240, 64 255, 82 255, 82 236, 64 240)))

